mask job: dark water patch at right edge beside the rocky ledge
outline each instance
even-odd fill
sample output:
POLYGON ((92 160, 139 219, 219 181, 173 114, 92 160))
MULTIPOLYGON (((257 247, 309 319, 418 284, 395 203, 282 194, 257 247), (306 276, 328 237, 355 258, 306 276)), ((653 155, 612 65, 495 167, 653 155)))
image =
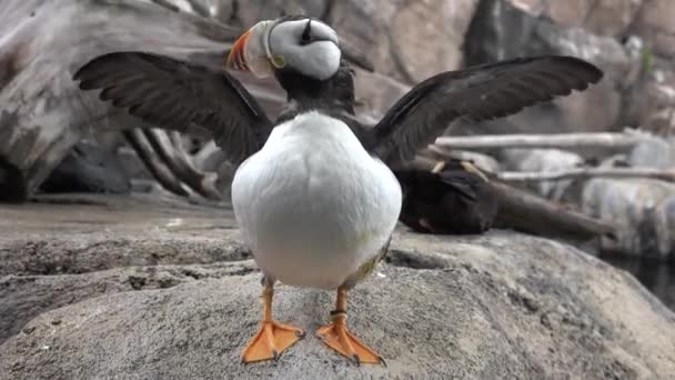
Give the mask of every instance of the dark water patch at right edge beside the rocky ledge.
POLYGON ((639 280, 645 288, 675 311, 675 263, 654 259, 628 257, 601 257, 604 261, 624 269, 639 280))

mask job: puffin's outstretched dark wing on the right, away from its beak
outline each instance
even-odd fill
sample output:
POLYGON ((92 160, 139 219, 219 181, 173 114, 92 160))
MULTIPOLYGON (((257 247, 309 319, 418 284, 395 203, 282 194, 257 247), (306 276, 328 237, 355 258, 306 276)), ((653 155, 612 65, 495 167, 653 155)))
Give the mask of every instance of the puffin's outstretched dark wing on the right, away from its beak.
POLYGON ((456 118, 484 121, 585 90, 601 80, 595 66, 573 57, 520 58, 447 71, 415 86, 372 129, 369 147, 384 162, 410 160, 456 118))

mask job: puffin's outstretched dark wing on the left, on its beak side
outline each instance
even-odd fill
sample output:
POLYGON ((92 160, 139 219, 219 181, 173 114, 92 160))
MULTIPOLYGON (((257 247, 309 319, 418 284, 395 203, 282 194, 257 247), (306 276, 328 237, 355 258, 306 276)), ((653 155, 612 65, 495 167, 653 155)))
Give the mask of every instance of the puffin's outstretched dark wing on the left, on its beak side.
POLYGON ((241 162, 266 141, 272 122, 244 87, 224 70, 147 52, 113 52, 73 77, 83 90, 162 129, 206 129, 225 156, 241 162))

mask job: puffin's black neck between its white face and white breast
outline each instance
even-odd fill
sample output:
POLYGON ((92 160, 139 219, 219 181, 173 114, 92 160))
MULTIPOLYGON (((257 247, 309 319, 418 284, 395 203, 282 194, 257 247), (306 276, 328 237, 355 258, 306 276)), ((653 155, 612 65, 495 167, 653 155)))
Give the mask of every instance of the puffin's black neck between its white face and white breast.
POLYGON ((292 70, 279 70, 276 80, 286 91, 289 101, 280 119, 290 119, 312 110, 328 114, 354 114, 354 81, 344 61, 335 74, 326 80, 312 79, 292 70))

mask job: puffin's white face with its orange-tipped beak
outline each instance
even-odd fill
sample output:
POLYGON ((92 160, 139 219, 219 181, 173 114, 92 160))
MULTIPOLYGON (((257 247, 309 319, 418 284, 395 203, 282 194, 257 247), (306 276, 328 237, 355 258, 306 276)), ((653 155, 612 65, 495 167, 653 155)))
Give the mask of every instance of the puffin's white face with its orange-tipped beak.
POLYGON ((341 56, 338 33, 321 21, 261 21, 234 42, 228 68, 259 78, 285 68, 325 80, 338 71, 341 56))

